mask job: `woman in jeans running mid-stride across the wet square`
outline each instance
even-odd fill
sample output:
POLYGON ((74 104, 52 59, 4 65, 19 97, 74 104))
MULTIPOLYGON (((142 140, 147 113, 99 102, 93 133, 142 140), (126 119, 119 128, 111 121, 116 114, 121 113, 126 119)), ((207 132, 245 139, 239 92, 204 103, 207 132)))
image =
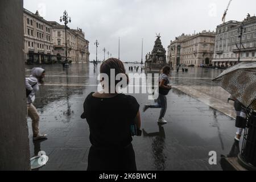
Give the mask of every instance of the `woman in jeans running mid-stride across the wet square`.
POLYGON ((164 115, 167 110, 167 98, 166 95, 171 90, 169 75, 171 72, 171 68, 166 66, 163 68, 163 74, 159 77, 159 97, 155 101, 154 105, 145 105, 143 111, 145 112, 148 108, 161 108, 158 123, 167 123, 164 119, 164 115))

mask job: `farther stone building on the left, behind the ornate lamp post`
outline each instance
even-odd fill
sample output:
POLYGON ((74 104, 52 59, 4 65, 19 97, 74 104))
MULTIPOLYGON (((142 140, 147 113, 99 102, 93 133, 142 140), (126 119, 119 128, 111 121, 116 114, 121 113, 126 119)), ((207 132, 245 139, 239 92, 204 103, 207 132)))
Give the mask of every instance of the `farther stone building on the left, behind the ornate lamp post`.
MULTIPOLYGON (((65 26, 57 22, 52 24, 53 54, 58 61, 65 60, 65 26)), ((89 61, 89 41, 85 39, 82 29, 67 28, 68 60, 72 63, 87 63, 89 61)))

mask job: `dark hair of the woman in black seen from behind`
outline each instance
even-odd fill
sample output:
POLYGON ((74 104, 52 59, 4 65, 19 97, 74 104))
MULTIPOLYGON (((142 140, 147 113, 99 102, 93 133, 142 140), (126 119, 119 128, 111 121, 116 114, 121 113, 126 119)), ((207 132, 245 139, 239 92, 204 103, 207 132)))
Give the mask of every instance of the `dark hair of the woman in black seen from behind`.
MULTIPOLYGON (((126 85, 129 84, 129 77, 126 75, 125 66, 123 65, 123 62, 119 59, 116 59, 116 58, 110 58, 110 59, 104 61, 104 63, 101 64, 101 68, 100 68, 101 73, 105 73, 106 75, 109 76, 109 85, 110 85, 110 79, 111 79, 111 77, 110 77, 111 76, 110 75, 110 70, 111 69, 115 70, 115 77, 120 73, 124 74, 127 78, 127 84, 126 85)), ((118 82, 120 82, 120 81, 118 81, 118 80, 115 81, 115 86, 118 84, 118 82)))

